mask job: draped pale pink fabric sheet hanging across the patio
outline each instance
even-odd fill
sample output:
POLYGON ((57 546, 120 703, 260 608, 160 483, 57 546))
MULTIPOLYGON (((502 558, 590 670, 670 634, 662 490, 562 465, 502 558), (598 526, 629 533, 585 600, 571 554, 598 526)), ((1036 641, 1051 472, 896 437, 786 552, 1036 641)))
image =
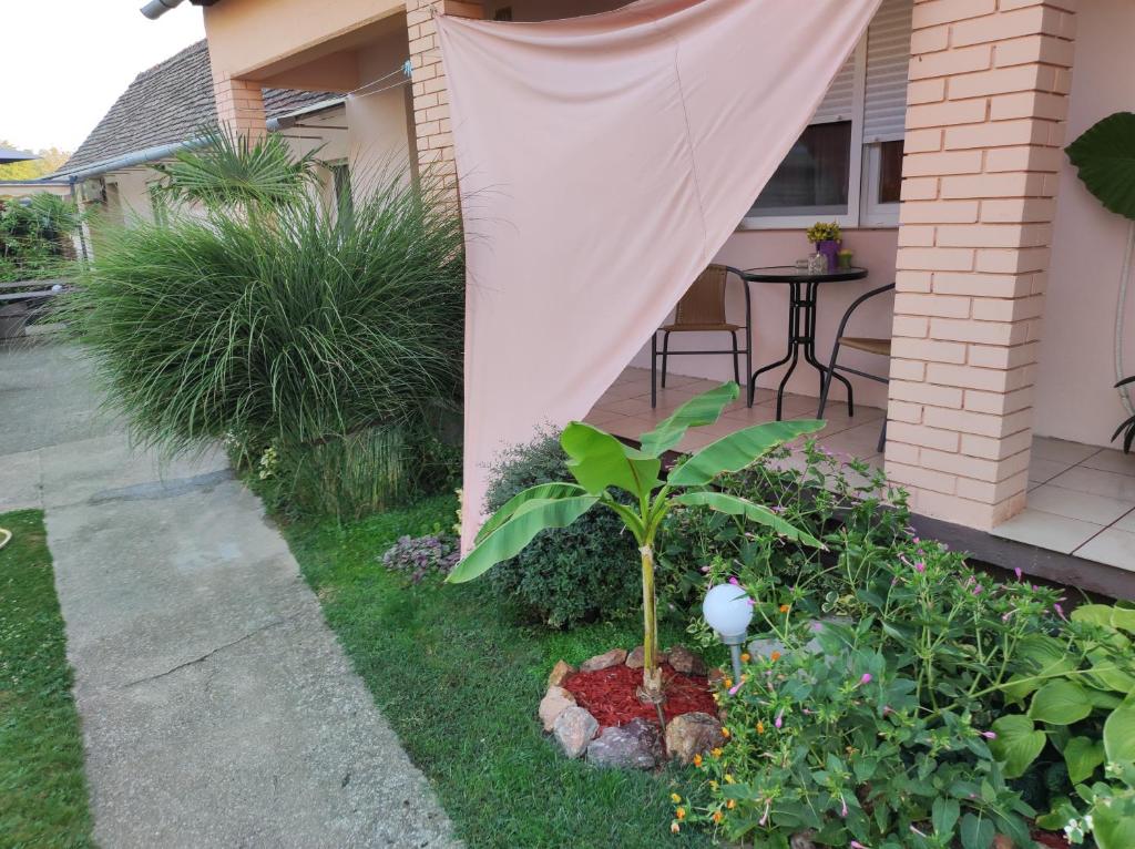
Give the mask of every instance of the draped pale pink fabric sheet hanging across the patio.
POLYGON ((878 2, 438 18, 468 251, 464 547, 494 456, 588 412, 733 233, 878 2))

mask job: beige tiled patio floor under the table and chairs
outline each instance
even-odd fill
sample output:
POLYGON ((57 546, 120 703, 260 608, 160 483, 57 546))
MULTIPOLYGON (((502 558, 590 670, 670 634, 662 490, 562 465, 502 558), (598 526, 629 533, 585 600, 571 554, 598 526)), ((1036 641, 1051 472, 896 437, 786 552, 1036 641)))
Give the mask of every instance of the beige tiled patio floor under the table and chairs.
MULTIPOLYGON (((633 439, 693 395, 717 385, 682 375, 671 375, 666 383, 665 389, 658 389, 657 407, 651 409, 649 369, 625 369, 585 418, 633 439)), ((816 404, 813 397, 785 395, 784 417, 814 418, 816 404)), ((884 414, 877 407, 858 405, 849 417, 846 404, 829 404, 819 444, 882 469, 883 455, 876 448, 884 414)), ((678 447, 697 451, 732 430, 775 417, 775 393, 759 388, 751 407, 741 397, 725 409, 716 424, 691 430, 678 447)), ((788 465, 801 463, 797 457, 787 461, 788 465)), ((1135 455, 1036 437, 1028 480, 1028 507, 994 528, 993 535, 1135 571, 1135 455)))

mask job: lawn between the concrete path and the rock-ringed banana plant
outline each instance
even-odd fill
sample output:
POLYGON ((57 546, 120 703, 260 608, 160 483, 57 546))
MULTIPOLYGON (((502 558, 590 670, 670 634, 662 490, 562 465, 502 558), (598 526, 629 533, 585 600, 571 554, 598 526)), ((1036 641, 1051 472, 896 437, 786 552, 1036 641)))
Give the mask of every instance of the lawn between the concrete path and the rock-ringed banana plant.
POLYGON ((398 536, 448 527, 455 507, 439 497, 348 526, 285 532, 327 621, 459 837, 471 849, 709 846, 693 829, 670 833, 670 795, 684 795, 681 771, 569 760, 536 718, 556 659, 579 663, 634 646, 637 621, 548 632, 521 623, 487 581, 409 587, 382 569, 378 558, 398 536))

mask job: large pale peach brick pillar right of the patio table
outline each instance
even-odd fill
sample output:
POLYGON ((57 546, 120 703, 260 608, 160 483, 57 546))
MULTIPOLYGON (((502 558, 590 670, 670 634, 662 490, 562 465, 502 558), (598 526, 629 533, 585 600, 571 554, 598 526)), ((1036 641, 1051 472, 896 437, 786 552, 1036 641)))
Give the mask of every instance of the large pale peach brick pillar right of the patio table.
POLYGON ((1025 505, 1076 0, 915 0, 886 473, 924 515, 1025 505))

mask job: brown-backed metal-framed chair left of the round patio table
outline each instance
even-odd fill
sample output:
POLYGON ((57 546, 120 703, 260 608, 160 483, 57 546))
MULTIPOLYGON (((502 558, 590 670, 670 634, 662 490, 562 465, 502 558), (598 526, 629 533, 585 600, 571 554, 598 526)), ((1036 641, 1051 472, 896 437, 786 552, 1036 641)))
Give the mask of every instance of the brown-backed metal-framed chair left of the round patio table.
MULTIPOLYGON (((746 381, 753 371, 753 335, 750 329, 751 311, 749 304, 749 287, 741 272, 730 266, 712 264, 698 275, 698 279, 682 295, 674 311, 674 320, 658 328, 662 330, 662 388, 666 388, 666 368, 671 356, 701 356, 706 354, 732 354, 733 380, 741 383, 739 356, 745 354, 746 381), (733 274, 741 281, 745 292, 745 323, 735 325, 725 318, 725 284, 733 274), (737 331, 745 330, 745 348, 738 347, 737 331), (733 337, 732 348, 716 351, 671 351, 670 335, 674 333, 712 333, 720 330, 733 337)), ((658 405, 658 330, 650 335, 650 406, 658 405)), ((753 406, 751 387, 748 394, 748 405, 753 406)))

